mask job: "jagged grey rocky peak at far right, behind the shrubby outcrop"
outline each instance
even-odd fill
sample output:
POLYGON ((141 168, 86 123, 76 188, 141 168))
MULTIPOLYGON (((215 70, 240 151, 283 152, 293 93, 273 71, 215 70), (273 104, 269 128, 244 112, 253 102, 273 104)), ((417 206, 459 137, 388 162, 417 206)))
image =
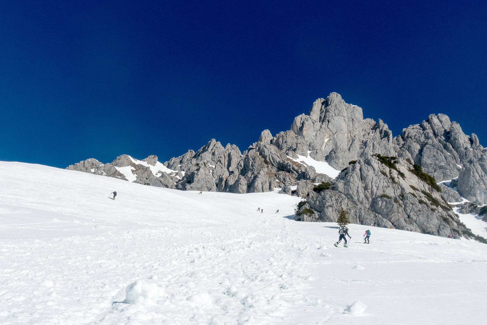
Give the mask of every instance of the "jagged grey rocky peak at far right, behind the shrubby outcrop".
POLYGON ((411 159, 437 182, 458 177, 460 195, 487 203, 487 152, 474 133, 466 135, 445 114, 431 114, 421 124, 410 125, 393 142, 399 157, 411 159))

